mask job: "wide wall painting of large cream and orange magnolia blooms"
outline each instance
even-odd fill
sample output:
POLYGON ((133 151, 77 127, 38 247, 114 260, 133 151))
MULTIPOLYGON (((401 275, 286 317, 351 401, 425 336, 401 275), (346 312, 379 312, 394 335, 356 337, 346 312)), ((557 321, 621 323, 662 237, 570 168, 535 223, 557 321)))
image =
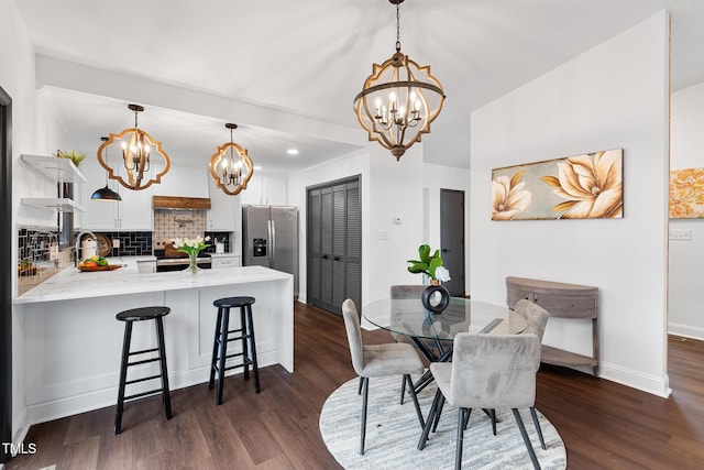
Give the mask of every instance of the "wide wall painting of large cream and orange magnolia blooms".
POLYGON ((624 150, 492 170, 492 220, 624 217, 624 150))

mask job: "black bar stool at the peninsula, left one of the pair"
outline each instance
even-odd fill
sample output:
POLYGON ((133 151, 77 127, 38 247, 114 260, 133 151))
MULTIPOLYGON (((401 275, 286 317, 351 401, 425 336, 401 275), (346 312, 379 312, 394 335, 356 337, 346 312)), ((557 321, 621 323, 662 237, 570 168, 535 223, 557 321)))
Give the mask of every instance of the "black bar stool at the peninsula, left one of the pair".
POLYGON ((172 396, 168 391, 168 371, 166 370, 166 348, 164 347, 164 323, 162 317, 168 315, 172 309, 168 307, 142 307, 132 308, 130 310, 120 311, 116 315, 116 318, 120 321, 124 321, 124 341, 122 343, 122 365, 120 367, 120 387, 118 391, 118 407, 114 414, 114 434, 118 435, 122 431, 122 409, 124 408, 124 402, 131 400, 141 398, 143 396, 151 396, 157 393, 162 394, 162 401, 164 402, 164 409, 166 412, 166 419, 172 418, 172 396), (156 341, 157 347, 152 349, 144 349, 141 351, 130 352, 130 345, 132 342, 132 325, 134 321, 143 320, 156 320, 156 341), (143 359, 130 362, 131 356, 144 354, 147 352, 158 352, 158 356, 151 359, 143 359), (148 362, 160 361, 161 373, 143 379, 127 380, 128 368, 132 365, 145 364, 148 362), (130 385, 139 382, 146 382, 147 380, 162 379, 162 387, 151 390, 148 392, 136 393, 134 395, 124 396, 125 385, 130 385))

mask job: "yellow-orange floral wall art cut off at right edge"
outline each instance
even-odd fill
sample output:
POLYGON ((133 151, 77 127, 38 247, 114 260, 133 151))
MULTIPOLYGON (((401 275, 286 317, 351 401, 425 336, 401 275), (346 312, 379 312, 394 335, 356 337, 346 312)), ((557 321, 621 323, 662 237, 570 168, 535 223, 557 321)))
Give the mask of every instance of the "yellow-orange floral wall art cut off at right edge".
POLYGON ((670 218, 704 217, 704 168, 670 172, 670 218))

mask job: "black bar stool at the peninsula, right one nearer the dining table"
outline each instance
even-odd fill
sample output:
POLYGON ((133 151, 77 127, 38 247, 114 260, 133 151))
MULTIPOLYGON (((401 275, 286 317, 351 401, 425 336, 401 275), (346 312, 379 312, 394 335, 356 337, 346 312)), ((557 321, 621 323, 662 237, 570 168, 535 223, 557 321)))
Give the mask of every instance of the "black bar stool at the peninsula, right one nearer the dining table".
POLYGON ((260 393, 260 370, 256 364, 256 343, 254 341, 254 321, 252 320, 252 304, 254 297, 226 297, 212 303, 218 307, 216 320, 216 337, 212 342, 212 361, 210 362, 210 382, 208 389, 212 390, 218 373, 218 392, 216 405, 222 404, 222 385, 224 373, 231 369, 244 368, 244 379, 250 379, 250 365, 254 372, 254 390, 260 393), (230 330, 230 308, 240 307, 240 328, 230 330), (238 336, 231 336, 239 334, 238 336), (228 354, 229 341, 242 341, 242 352, 228 354), (226 367, 230 358, 242 357, 242 362, 226 367))

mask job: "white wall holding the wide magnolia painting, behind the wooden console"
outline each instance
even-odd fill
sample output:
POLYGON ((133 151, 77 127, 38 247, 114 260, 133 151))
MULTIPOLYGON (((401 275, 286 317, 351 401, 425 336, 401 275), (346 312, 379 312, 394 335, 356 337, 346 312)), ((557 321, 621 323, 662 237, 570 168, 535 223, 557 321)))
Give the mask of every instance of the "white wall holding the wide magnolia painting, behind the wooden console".
MULTIPOLYGON (((472 298, 508 275, 600 288, 601 375, 653 394, 667 376, 668 15, 594 47, 472 114, 472 298), (492 168, 624 149, 616 220, 492 221, 492 168)), ((588 323, 544 342, 591 351, 588 323)))

